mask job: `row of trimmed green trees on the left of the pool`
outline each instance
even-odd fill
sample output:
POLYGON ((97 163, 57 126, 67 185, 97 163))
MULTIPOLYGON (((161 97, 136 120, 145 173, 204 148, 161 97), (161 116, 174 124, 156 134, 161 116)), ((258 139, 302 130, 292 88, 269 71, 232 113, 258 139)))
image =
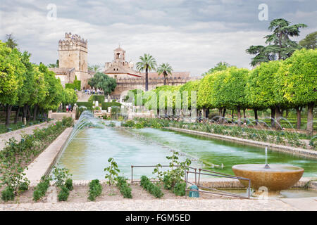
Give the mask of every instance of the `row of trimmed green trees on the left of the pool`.
POLYGON ((77 95, 72 89, 63 89, 61 80, 44 64, 30 62, 30 53, 21 53, 15 46, 0 41, 0 105, 6 108, 6 127, 11 110, 16 123, 20 111, 23 118, 37 120, 39 113, 56 110, 61 103, 75 103, 77 95), (32 114, 32 116, 31 116, 32 114))

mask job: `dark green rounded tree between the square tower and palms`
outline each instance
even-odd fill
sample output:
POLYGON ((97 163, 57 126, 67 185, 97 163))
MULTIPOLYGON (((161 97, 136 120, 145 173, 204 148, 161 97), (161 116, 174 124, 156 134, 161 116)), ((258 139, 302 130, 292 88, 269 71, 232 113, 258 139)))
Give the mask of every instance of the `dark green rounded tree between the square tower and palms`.
POLYGON ((117 86, 116 79, 108 77, 108 75, 105 75, 103 72, 96 72, 88 84, 95 89, 103 90, 104 95, 111 94, 117 86))

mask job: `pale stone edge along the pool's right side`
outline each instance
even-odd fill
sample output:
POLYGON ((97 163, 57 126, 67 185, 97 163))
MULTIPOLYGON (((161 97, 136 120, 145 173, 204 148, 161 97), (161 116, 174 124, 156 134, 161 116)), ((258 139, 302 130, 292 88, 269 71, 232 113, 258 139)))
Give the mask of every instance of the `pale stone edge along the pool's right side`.
POLYGON ((249 144, 251 146, 257 146, 257 147, 268 146, 272 150, 278 150, 278 151, 284 152, 284 153, 304 156, 306 158, 317 159, 317 151, 315 151, 315 150, 308 150, 308 149, 304 149, 304 148, 294 148, 294 147, 290 147, 290 146, 281 146, 281 145, 277 145, 274 143, 266 143, 266 142, 262 142, 262 141, 240 139, 240 138, 235 138, 232 136, 225 136, 225 135, 220 135, 220 134, 211 134, 211 133, 207 133, 207 132, 203 132, 203 131, 193 131, 193 130, 189 130, 189 129, 180 129, 180 128, 176 128, 176 127, 164 127, 163 129, 169 129, 172 131, 180 131, 180 132, 184 132, 187 134, 196 134, 199 136, 206 136, 206 137, 221 139, 221 140, 225 140, 225 141, 234 141, 234 142, 249 144))

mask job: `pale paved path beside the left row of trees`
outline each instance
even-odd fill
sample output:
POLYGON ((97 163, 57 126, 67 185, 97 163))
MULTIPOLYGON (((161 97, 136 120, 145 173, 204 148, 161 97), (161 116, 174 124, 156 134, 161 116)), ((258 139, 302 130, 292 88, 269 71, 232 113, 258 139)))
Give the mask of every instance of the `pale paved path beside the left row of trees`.
POLYGON ((0 134, 0 150, 6 146, 6 141, 11 139, 12 137, 15 138, 15 140, 20 141, 21 140, 21 134, 33 134, 33 130, 35 128, 42 129, 44 127, 48 127, 49 124, 53 124, 56 122, 56 120, 51 120, 50 122, 43 122, 41 124, 36 124, 30 127, 25 127, 23 129, 18 129, 15 131, 11 131, 8 133, 0 134))

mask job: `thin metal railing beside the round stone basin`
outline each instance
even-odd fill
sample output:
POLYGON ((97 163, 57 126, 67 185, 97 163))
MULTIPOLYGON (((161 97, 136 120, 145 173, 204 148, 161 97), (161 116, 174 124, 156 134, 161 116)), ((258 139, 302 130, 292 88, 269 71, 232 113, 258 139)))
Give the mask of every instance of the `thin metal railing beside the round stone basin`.
MULTIPOLYGON (((170 167, 170 165, 144 165, 144 166, 135 166, 135 165, 131 165, 131 184, 133 183, 138 183, 140 181, 133 181, 133 168, 135 167, 170 167)), ((174 167, 179 167, 178 165, 175 165, 174 167)), ((251 180, 248 178, 244 178, 241 176, 233 176, 230 174, 223 174, 220 172, 214 172, 208 169, 201 169, 201 168, 194 168, 194 167, 189 167, 186 166, 185 167, 185 176, 184 176, 184 181, 186 183, 186 187, 185 187, 185 198, 187 198, 187 192, 188 191, 197 191, 197 192, 201 192, 201 193, 211 193, 213 195, 227 195, 227 196, 231 196, 231 197, 237 197, 237 198, 250 198, 251 196, 251 180), (193 171, 189 171, 189 169, 192 169, 193 171), (197 170, 199 170, 199 172, 197 172, 197 170), (204 173, 204 172, 208 172, 208 173, 204 173), (194 174, 195 177, 195 181, 194 183, 188 181, 188 174, 194 174), (198 181, 197 181, 197 175, 198 175, 198 181), (224 177, 224 178, 230 178, 230 179, 238 179, 238 180, 245 180, 245 181, 249 181, 249 186, 247 188, 247 197, 244 195, 239 195, 239 194, 235 194, 235 193, 230 193, 228 191, 222 191, 222 190, 218 190, 216 188, 210 188, 210 187, 206 187, 206 186, 202 186, 200 183, 200 178, 201 175, 207 175, 207 176, 216 176, 216 177, 224 177), (196 185, 198 187, 198 190, 193 190, 193 189, 188 189, 187 185, 188 184, 192 184, 192 185, 196 185), (199 188, 203 188, 203 189, 209 189, 211 191, 204 191, 204 190, 199 190, 199 188), (217 191, 217 192, 212 192, 212 191, 217 191)))

